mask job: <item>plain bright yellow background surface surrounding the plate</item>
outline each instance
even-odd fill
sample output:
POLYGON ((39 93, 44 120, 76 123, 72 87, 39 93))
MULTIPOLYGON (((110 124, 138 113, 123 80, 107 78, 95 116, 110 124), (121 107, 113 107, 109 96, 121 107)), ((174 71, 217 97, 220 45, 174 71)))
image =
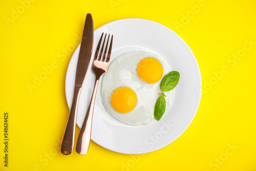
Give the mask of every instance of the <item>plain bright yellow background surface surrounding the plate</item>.
POLYGON ((255 1, 21 2, 27 1, 0 1, 0 170, 256 169, 255 1), (122 18, 153 20, 178 33, 194 52, 202 99, 195 119, 172 144, 135 156, 94 142, 85 156, 60 153, 69 113, 65 76, 87 13, 95 29, 122 18), (9 112, 8 168, 4 112, 9 112))

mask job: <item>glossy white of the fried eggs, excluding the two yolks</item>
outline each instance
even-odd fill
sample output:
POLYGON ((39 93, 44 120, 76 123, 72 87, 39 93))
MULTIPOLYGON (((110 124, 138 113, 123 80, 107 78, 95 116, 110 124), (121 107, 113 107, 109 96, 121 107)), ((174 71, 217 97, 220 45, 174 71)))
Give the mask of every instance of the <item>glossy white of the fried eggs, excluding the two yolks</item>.
MULTIPOLYGON (((162 93, 160 89, 162 78, 156 83, 147 83, 138 76, 138 63, 146 57, 153 57, 161 62, 163 67, 162 77, 170 72, 166 63, 156 54, 129 52, 113 60, 108 72, 102 79, 101 98, 104 108, 117 120, 130 125, 146 125, 156 120, 154 118, 154 106, 160 96, 158 93, 162 93), (129 87, 136 93, 137 104, 131 112, 119 113, 111 105, 110 97, 113 91, 119 87, 129 87)), ((172 91, 165 92, 165 95, 166 113, 172 99, 172 91)))

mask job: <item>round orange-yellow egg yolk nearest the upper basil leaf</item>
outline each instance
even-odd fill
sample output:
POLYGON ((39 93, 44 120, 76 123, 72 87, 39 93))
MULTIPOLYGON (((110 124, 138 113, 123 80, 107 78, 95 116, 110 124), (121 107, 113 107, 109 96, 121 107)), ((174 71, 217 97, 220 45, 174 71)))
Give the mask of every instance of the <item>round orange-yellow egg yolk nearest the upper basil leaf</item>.
POLYGON ((162 77, 163 67, 157 59, 146 57, 139 62, 137 74, 143 81, 155 83, 162 77))

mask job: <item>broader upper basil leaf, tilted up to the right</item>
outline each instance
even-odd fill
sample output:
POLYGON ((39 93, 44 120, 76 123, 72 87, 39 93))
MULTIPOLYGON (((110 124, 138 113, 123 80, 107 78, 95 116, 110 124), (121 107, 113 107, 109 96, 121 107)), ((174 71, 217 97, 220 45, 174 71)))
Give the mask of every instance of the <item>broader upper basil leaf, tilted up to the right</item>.
POLYGON ((161 82, 160 82, 160 89, 163 92, 168 92, 170 90, 173 90, 180 79, 180 73, 177 71, 172 71, 166 74, 161 82))

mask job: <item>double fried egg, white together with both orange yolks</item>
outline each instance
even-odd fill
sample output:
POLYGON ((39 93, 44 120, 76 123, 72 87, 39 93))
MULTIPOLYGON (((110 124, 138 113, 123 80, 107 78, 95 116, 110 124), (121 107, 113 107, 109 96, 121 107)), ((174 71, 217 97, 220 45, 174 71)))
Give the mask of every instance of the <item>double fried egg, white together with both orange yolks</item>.
MULTIPOLYGON (((146 125, 154 118, 154 106, 162 93, 161 78, 170 72, 166 63, 156 54, 129 52, 109 66, 101 85, 105 110, 117 120, 130 125, 146 125)), ((172 91, 165 92, 166 110, 172 91)))

